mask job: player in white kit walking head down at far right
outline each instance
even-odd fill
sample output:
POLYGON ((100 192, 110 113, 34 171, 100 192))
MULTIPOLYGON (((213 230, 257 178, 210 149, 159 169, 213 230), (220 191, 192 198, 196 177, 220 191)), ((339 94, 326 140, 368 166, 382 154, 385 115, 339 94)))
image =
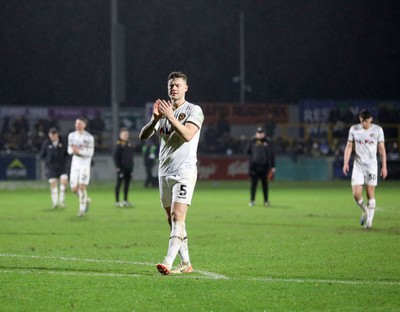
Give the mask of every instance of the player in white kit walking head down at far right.
POLYGON ((360 123, 353 125, 349 130, 347 145, 344 151, 343 173, 349 172, 349 160, 355 145, 355 158, 351 175, 353 196, 357 205, 363 211, 360 223, 365 228, 372 227, 376 200, 375 187, 378 184, 377 151, 381 161, 380 176, 387 176, 386 149, 383 129, 372 124, 372 115, 369 110, 362 110, 359 114, 360 123), (363 199, 363 185, 366 185, 367 205, 363 199))

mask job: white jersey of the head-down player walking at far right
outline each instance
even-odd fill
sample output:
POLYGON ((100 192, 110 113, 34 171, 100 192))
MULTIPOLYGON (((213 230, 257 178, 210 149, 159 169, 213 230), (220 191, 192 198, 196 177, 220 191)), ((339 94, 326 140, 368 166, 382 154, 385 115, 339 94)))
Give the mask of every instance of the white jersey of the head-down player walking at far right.
POLYGON ((361 124, 353 125, 348 140, 355 144, 355 159, 358 165, 369 167, 377 163, 378 143, 385 142, 383 129, 375 124, 365 130, 361 124))

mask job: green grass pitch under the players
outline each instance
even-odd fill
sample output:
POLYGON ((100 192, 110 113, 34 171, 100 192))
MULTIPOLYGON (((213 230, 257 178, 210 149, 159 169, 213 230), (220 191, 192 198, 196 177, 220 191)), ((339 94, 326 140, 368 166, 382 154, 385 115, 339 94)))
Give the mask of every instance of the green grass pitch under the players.
POLYGON ((400 311, 398 182, 363 230, 349 182, 283 183, 248 207, 247 182, 199 182, 186 223, 195 272, 161 276, 169 229, 158 191, 89 186, 51 210, 46 182, 0 184, 0 311, 400 311))

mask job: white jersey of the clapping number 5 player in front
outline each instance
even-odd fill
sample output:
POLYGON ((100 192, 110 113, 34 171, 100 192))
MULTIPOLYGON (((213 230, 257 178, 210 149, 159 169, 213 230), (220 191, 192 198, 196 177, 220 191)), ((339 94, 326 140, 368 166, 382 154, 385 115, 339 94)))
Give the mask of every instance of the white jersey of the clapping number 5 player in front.
POLYGON ((172 129, 166 118, 161 118, 155 130, 160 135, 159 176, 176 174, 197 174, 197 146, 199 145, 201 127, 204 121, 203 110, 198 105, 185 102, 174 111, 174 116, 181 124, 191 122, 199 131, 185 142, 172 129))

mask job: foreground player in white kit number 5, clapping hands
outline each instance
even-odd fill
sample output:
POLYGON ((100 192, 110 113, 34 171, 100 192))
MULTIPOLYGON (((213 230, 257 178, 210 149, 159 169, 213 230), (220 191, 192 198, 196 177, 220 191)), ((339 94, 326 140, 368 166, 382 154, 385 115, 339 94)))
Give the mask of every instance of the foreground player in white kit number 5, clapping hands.
POLYGON ((197 181, 197 146, 204 115, 200 106, 185 100, 187 90, 186 75, 170 73, 170 100, 155 101, 153 116, 139 134, 141 140, 156 132, 160 135, 160 199, 171 228, 167 256, 163 263, 157 264, 158 271, 164 275, 193 271, 185 221, 197 181), (172 270, 178 253, 181 262, 176 270, 172 270))

